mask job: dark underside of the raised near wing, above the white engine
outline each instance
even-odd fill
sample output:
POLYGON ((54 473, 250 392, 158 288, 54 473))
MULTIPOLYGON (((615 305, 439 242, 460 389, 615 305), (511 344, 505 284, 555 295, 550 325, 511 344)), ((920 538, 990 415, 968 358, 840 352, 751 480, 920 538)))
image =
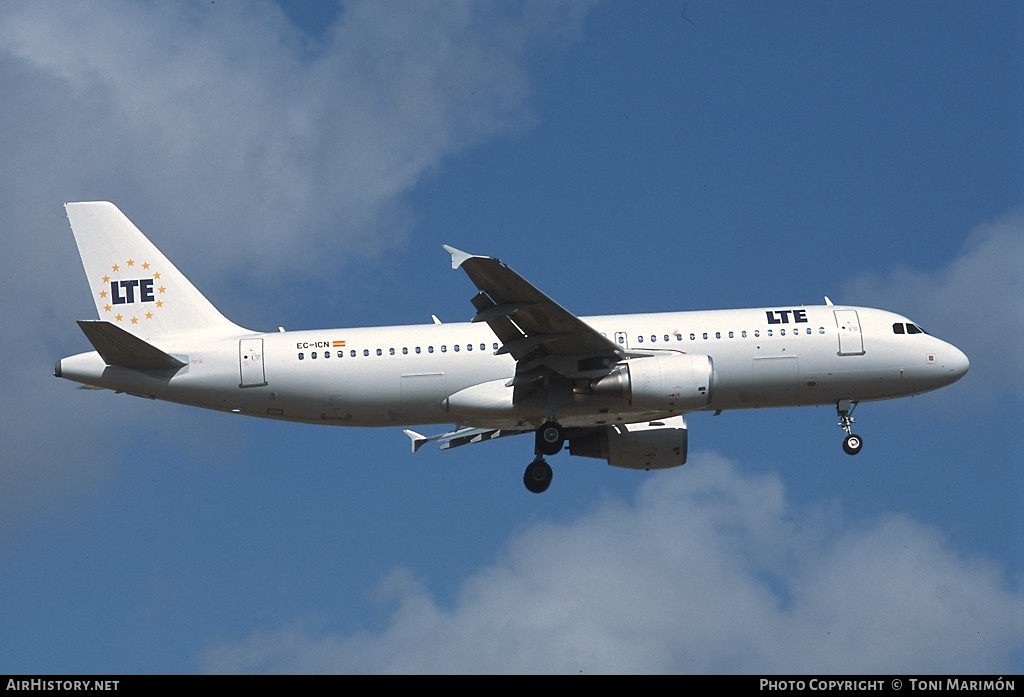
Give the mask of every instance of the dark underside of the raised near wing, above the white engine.
POLYGON ((608 367, 628 353, 544 295, 498 259, 444 247, 452 268, 461 268, 479 290, 473 321, 486 322, 501 342, 497 353, 516 360, 514 401, 537 389, 571 388, 571 381, 608 367), (552 384, 554 380, 554 384, 552 384))

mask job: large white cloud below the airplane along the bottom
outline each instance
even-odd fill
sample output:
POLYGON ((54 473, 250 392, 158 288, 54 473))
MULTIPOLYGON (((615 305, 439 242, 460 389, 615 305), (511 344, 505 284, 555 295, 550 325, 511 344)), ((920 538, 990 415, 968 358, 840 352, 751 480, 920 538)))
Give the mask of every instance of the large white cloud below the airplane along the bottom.
POLYGON ((961 673, 1013 668, 1024 596, 904 516, 795 510, 716 455, 514 536, 443 607, 408 573, 379 631, 294 626, 211 672, 961 673))

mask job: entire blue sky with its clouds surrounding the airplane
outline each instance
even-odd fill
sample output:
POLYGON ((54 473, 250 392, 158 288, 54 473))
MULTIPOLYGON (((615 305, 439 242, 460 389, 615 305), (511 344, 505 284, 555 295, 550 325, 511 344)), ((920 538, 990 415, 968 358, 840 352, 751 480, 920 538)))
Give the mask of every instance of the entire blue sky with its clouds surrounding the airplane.
POLYGON ((0 672, 1024 670, 1024 14, 945 2, 0 5, 0 672), (660 473, 50 376, 115 202, 253 329, 819 302, 934 394, 689 419, 660 473))

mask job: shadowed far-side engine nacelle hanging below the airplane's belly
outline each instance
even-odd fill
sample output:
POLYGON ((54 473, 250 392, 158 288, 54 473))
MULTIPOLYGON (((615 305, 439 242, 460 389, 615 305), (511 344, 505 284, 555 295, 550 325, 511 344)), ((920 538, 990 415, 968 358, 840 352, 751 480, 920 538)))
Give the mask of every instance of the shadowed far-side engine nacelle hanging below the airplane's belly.
POLYGON ((686 420, 672 417, 643 424, 606 426, 569 439, 569 453, 607 460, 612 467, 665 470, 686 464, 686 420))

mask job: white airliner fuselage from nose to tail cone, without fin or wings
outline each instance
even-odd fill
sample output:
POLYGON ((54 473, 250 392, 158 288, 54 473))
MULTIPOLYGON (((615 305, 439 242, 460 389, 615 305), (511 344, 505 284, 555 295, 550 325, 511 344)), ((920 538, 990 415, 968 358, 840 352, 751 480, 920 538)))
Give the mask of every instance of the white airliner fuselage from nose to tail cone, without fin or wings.
MULTIPOLYGON (((919 394, 968 367, 956 347, 898 334, 906 317, 831 305, 583 317, 631 352, 708 355, 701 409, 836 404, 919 394)), ((916 328, 913 328, 916 330, 916 328)), ((156 341, 154 343, 157 343, 156 341)), ((159 347, 177 371, 109 366, 95 352, 62 359, 60 377, 86 385, 249 416, 341 426, 540 425, 549 404, 513 404, 516 364, 484 323, 279 332, 159 347)), ((636 359, 636 358, 634 358, 636 359)), ((642 358, 641 358, 642 359, 642 358)), ((690 409, 692 410, 692 409, 690 409)), ((585 390, 560 404, 564 426, 671 416, 585 390)))

